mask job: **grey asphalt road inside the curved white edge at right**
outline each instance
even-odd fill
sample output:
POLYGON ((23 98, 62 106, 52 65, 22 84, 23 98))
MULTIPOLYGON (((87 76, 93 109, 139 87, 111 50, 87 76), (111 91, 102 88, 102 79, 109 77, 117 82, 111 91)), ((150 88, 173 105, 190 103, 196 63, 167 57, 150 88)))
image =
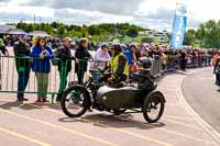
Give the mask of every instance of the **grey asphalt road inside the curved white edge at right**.
POLYGON ((193 109, 220 133, 220 92, 212 71, 212 68, 208 68, 187 77, 183 90, 193 109))

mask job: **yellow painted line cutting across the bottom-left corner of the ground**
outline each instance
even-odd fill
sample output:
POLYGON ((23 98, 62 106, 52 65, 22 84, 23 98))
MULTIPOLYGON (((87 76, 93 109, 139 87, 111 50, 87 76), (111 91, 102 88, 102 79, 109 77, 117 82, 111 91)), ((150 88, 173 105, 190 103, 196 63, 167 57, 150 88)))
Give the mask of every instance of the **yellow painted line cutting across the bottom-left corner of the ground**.
POLYGON ((22 138, 22 139, 30 141, 30 142, 32 142, 32 143, 35 143, 35 144, 40 145, 40 146, 52 146, 52 145, 50 145, 50 144, 47 144, 47 143, 44 143, 44 142, 34 139, 34 138, 29 137, 29 136, 25 136, 25 135, 23 135, 23 134, 19 134, 19 133, 9 131, 9 130, 3 128, 3 127, 0 127, 0 132, 7 133, 7 134, 9 134, 9 135, 12 135, 12 136, 15 136, 15 137, 19 137, 19 138, 22 138))

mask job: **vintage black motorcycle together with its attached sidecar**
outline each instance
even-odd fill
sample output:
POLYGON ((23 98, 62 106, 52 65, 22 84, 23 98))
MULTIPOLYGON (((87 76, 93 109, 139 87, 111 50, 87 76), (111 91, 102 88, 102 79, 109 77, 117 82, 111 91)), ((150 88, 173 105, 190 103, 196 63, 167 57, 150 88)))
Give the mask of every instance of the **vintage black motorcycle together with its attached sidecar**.
POLYGON ((87 110, 96 109, 116 115, 122 113, 143 113, 148 123, 157 122, 163 115, 165 98, 161 91, 140 90, 133 87, 113 88, 108 86, 110 74, 90 70, 91 75, 101 74, 100 81, 89 77, 85 86, 73 85, 62 96, 62 110, 69 117, 79 117, 87 110))

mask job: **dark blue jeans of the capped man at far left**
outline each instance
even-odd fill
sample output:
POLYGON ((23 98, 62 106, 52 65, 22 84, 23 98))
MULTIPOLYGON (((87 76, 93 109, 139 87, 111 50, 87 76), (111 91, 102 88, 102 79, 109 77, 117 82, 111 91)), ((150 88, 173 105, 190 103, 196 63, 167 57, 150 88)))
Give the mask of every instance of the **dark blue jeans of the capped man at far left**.
POLYGON ((19 80, 18 80, 18 99, 23 99, 24 90, 28 86, 30 78, 30 70, 19 71, 19 80))

